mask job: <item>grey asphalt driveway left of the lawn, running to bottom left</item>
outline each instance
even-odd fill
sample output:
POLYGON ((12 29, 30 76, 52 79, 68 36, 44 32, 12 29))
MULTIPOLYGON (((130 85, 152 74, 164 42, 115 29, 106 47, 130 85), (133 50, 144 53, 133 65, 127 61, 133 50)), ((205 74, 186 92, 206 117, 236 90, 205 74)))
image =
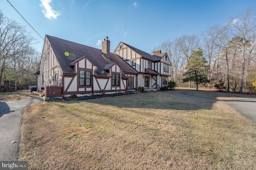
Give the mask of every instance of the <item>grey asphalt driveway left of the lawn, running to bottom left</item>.
POLYGON ((42 102, 40 98, 0 102, 0 160, 17 161, 21 117, 25 107, 42 102))

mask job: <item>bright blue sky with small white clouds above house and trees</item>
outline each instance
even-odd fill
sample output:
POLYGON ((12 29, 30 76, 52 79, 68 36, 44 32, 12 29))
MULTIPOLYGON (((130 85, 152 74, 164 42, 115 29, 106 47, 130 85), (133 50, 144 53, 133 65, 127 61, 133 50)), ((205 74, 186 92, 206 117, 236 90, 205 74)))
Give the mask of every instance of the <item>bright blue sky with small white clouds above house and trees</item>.
MULTIPOLYGON (((214 24, 223 25, 230 16, 255 7, 256 0, 9 0, 44 38, 51 35, 101 49, 108 36, 111 52, 120 41, 150 53, 162 41, 184 34, 197 35, 214 24)), ((7 0, 0 9, 8 18, 25 25, 38 39, 41 53, 44 40, 22 19, 7 0)))

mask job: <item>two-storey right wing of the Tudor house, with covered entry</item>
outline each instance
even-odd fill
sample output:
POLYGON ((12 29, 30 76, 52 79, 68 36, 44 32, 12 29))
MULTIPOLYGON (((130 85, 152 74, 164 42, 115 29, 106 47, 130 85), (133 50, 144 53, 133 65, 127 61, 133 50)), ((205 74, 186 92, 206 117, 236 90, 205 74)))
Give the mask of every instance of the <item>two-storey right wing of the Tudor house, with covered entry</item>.
POLYGON ((138 87, 152 89, 168 86, 172 64, 167 53, 157 50, 150 55, 123 42, 119 43, 114 53, 138 71, 138 87))

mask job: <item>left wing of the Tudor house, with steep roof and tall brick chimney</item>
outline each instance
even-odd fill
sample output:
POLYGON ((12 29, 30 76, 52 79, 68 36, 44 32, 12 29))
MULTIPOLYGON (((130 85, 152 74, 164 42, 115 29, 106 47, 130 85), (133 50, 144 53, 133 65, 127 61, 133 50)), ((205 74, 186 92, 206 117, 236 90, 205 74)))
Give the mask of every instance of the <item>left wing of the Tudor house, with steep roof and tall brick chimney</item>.
POLYGON ((120 56, 110 53, 108 37, 100 50, 46 35, 37 74, 37 90, 62 86, 62 95, 66 96, 133 90, 138 72, 120 56), (133 82, 128 87, 131 78, 133 82))

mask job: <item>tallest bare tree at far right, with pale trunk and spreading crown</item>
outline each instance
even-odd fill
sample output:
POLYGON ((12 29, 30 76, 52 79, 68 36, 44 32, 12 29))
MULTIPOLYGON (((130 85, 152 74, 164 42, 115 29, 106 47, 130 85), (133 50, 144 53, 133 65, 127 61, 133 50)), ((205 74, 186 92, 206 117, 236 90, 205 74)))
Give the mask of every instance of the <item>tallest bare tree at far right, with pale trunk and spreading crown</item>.
POLYGON ((236 41, 237 39, 231 39, 234 43, 242 47, 242 63, 241 63, 241 80, 240 80, 240 90, 243 92, 244 83, 244 70, 246 63, 246 51, 251 45, 255 43, 256 39, 256 11, 254 8, 249 8, 246 12, 238 14, 238 16, 230 17, 230 21, 225 25, 229 33, 233 37, 238 37, 241 41, 236 41))

